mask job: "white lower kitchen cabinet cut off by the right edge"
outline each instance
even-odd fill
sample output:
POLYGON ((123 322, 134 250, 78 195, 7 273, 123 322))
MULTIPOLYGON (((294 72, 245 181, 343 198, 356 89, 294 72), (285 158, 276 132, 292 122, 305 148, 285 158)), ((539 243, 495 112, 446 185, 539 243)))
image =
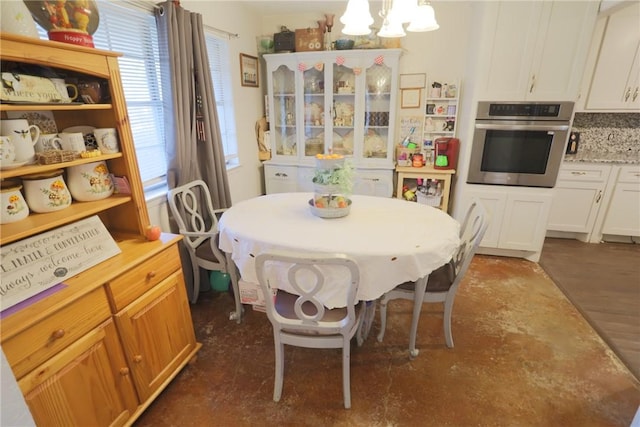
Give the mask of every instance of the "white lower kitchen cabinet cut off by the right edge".
POLYGON ((640 166, 618 168, 618 178, 604 217, 602 234, 639 237, 640 166))

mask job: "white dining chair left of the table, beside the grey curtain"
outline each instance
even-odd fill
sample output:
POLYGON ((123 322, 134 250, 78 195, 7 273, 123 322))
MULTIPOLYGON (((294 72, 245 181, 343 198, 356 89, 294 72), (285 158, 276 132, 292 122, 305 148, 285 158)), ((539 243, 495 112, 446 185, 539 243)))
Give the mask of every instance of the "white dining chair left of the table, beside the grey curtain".
POLYGON ((200 294, 200 267, 208 271, 228 273, 236 298, 236 311, 230 318, 240 321, 242 306, 239 304, 235 265, 218 248, 218 217, 226 209, 213 209, 209 187, 202 180, 195 180, 176 187, 167 193, 169 208, 178 225, 178 233, 184 239, 193 270, 189 284, 189 300, 198 301, 200 294))

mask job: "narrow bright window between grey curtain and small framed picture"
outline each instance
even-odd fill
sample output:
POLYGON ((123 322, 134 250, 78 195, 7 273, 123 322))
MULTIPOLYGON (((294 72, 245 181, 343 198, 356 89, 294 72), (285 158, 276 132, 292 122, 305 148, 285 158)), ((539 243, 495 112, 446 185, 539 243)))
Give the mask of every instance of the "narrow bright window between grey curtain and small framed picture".
POLYGON ((238 140, 236 137, 236 119, 233 113, 228 43, 210 32, 206 32, 205 42, 207 44, 209 68, 211 69, 213 92, 216 98, 225 161, 227 167, 237 166, 239 163, 238 140))

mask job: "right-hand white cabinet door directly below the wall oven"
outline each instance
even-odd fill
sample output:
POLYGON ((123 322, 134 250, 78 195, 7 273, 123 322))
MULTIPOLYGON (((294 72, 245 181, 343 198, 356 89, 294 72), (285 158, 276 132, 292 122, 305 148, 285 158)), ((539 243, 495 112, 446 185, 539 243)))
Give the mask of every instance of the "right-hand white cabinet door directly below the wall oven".
POLYGON ((498 247, 539 251, 544 243, 550 207, 550 194, 508 194, 498 247))

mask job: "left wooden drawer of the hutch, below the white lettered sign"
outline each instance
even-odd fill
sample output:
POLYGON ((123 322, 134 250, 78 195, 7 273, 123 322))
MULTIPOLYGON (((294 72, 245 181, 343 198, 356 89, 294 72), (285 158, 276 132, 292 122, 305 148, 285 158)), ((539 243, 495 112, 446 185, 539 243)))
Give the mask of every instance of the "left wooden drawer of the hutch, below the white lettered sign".
POLYGON ((103 288, 84 295, 22 333, 2 343, 20 379, 111 316, 103 288))

